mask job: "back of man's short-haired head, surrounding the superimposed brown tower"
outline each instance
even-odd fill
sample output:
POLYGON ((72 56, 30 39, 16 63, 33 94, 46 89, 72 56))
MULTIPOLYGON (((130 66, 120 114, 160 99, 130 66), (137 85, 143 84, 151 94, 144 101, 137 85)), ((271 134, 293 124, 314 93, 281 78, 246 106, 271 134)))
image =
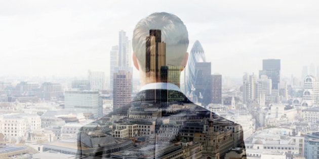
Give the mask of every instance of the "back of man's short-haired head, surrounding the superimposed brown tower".
POLYGON ((188 47, 188 32, 183 21, 170 13, 153 13, 140 20, 133 32, 133 52, 145 71, 145 41, 150 29, 162 31, 162 42, 166 43, 166 65, 180 66, 188 47))

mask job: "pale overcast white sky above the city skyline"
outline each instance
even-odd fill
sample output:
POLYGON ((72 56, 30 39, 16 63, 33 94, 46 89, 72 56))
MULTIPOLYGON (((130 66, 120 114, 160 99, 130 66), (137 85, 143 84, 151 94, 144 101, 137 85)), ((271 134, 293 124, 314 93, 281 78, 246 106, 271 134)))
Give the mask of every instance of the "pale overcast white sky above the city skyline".
MULTIPOLYGON (((0 72, 6 76, 109 75, 118 31, 168 12, 186 25, 212 62, 212 73, 258 73, 281 59, 282 75, 319 65, 319 1, 5 1, 0 0, 0 72)), ((134 70, 134 77, 138 76, 134 70)))

